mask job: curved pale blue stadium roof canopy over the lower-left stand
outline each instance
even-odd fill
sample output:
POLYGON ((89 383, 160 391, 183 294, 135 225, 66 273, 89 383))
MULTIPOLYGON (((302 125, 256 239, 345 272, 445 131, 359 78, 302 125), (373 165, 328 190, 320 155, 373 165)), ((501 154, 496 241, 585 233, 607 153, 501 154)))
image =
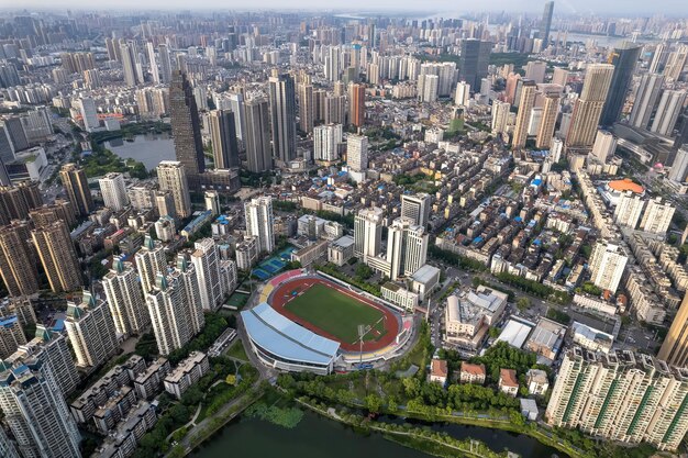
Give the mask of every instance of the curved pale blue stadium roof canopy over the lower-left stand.
POLYGON ((340 349, 339 342, 301 327, 266 302, 241 313, 251 339, 284 359, 329 365, 340 349))

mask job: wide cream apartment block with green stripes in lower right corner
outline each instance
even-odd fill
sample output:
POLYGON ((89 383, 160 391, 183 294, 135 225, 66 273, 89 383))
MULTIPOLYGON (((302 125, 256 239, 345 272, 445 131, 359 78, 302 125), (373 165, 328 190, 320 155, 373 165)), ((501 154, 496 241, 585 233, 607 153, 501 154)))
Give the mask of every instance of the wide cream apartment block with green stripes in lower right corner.
POLYGON ((688 431, 688 369, 629 350, 564 355, 545 417, 557 427, 675 450, 688 431))

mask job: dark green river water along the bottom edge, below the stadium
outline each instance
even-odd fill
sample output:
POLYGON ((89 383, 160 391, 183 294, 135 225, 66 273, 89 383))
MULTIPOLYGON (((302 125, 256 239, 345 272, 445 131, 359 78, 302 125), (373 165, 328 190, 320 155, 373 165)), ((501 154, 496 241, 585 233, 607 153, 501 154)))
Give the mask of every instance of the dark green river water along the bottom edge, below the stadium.
MULTIPOLYGON (((436 425, 457 438, 473 437, 488 444, 495 451, 504 448, 523 458, 564 457, 537 440, 499 429, 463 425, 436 425)), ((238 418, 203 443, 191 458, 352 458, 395 457, 426 458, 421 451, 385 439, 381 434, 364 435, 333 420, 310 411, 298 426, 288 429, 256 418, 238 418)))

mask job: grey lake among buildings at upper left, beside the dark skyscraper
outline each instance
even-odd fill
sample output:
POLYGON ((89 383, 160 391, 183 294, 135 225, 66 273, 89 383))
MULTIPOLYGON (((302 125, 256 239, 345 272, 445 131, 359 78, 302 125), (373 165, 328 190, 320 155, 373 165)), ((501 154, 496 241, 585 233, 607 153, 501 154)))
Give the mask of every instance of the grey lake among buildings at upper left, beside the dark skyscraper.
POLYGON ((151 170, 160 160, 175 160, 175 142, 168 133, 136 135, 130 142, 114 138, 104 143, 104 147, 122 159, 135 159, 151 170))

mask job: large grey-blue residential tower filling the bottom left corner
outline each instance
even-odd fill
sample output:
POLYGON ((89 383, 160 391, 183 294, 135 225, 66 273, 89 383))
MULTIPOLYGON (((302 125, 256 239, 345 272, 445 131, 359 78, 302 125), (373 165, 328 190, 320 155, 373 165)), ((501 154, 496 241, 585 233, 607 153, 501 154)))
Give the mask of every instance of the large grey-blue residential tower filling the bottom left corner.
POLYGON ((80 458, 81 436, 48 365, 0 364, 0 410, 24 458, 80 458))

